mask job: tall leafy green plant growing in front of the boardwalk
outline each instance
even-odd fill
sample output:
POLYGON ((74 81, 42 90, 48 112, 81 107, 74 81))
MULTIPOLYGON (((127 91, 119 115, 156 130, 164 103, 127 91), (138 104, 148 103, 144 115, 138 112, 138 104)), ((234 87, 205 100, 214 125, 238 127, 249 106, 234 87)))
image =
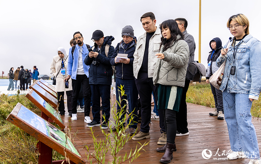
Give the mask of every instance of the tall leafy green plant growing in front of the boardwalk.
MULTIPOLYGON (((119 101, 116 100, 117 104, 121 106, 123 101, 126 101, 126 99, 122 99, 123 95, 125 94, 125 91, 123 89, 123 86, 120 85, 118 89, 119 94, 119 101)), ((131 138, 134 136, 128 134, 125 132, 125 129, 127 129, 131 125, 131 121, 133 120, 132 113, 129 113, 128 117, 130 118, 129 123, 124 127, 123 123, 126 121, 126 114, 124 114, 124 108, 127 104, 124 104, 123 107, 121 107, 120 111, 117 111, 117 105, 115 106, 115 103, 112 107, 111 114, 113 115, 114 121, 111 122, 110 132, 104 132, 104 130, 101 128, 102 133, 105 137, 104 140, 97 139, 97 136, 94 135, 94 131, 91 129, 91 137, 93 139, 93 146, 94 146, 94 152, 90 152, 90 147, 86 146, 88 155, 87 159, 90 164, 98 163, 103 164, 106 160, 106 154, 107 152, 110 152, 110 155, 112 156, 112 160, 108 163, 110 164, 120 164, 123 162, 129 162, 132 163, 135 159, 137 159, 141 153, 141 150, 144 150, 143 147, 148 144, 148 142, 145 142, 143 145, 139 143, 141 146, 138 148, 138 145, 136 145, 136 149, 133 151, 132 149, 127 153, 125 152, 125 155, 122 157, 119 155, 120 151, 124 148, 126 143, 131 140, 131 138), (116 132, 112 132, 112 127, 115 126, 116 132)), ((135 109, 137 110, 137 109, 135 109)), ((103 115, 103 118, 105 120, 105 115, 103 115)), ((145 151, 145 150, 144 150, 145 151)), ((111 157, 110 156, 110 157, 111 157)))

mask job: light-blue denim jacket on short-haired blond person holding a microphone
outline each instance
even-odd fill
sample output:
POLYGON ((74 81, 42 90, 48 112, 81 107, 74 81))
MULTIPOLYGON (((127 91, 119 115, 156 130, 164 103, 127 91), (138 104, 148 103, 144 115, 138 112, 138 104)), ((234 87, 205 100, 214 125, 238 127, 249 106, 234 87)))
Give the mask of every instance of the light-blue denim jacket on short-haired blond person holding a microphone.
POLYGON ((232 46, 234 40, 235 37, 232 38, 232 42, 229 42, 227 55, 220 55, 217 59, 219 67, 226 60, 224 75, 219 89, 224 91, 227 86, 229 92, 249 94, 249 98, 257 100, 261 91, 261 42, 249 34, 235 45, 234 49, 232 46), (236 66, 236 71, 234 75, 231 75, 230 70, 235 50, 234 65, 236 66))

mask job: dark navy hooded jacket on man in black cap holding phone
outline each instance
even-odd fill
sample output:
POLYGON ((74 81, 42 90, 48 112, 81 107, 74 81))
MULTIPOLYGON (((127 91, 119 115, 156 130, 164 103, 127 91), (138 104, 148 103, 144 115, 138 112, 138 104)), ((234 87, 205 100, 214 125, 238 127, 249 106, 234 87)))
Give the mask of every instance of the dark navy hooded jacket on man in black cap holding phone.
POLYGON ((89 69, 89 83, 90 84, 106 84, 111 85, 111 76, 112 76, 112 67, 110 64, 110 57, 114 52, 114 47, 111 45, 111 42, 114 40, 113 36, 104 37, 103 45, 101 46, 100 51, 98 52, 98 45, 94 43, 94 52, 98 52, 99 55, 97 58, 90 58, 89 55, 84 59, 86 65, 90 65, 89 69), (110 45, 108 57, 105 54, 105 46, 110 45), (100 62, 98 66, 93 65, 93 60, 100 62))

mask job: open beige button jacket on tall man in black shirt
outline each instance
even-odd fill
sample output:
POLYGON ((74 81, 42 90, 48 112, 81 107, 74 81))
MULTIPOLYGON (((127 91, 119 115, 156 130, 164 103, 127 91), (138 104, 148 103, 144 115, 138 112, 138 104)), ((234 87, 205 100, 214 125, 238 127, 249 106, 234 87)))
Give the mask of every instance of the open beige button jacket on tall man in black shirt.
MULTIPOLYGON (((134 52, 134 61, 133 61, 133 73, 134 77, 137 79, 141 64, 143 61, 145 44, 146 44, 147 32, 141 35, 137 40, 137 46, 134 52)), ((148 53, 148 77, 153 76, 154 67, 157 62, 157 57, 155 54, 159 53, 161 44, 161 30, 156 29, 154 35, 151 37, 149 42, 149 53, 148 53)))

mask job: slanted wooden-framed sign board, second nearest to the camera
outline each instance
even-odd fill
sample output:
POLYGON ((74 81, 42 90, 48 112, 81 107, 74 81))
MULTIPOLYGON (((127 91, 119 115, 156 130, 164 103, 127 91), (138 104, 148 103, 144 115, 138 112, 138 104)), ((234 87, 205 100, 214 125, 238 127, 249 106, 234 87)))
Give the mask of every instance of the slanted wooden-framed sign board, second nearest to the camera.
MULTIPOLYGON (((58 110, 53 109, 51 105, 49 105, 42 97, 40 97, 35 91, 32 89, 25 95, 27 99, 29 99, 34 105, 36 105, 42 112, 44 112, 49 118, 53 120, 61 129, 65 128, 63 124, 63 120, 58 110)), ((48 120, 47 120, 48 121, 48 120)))

